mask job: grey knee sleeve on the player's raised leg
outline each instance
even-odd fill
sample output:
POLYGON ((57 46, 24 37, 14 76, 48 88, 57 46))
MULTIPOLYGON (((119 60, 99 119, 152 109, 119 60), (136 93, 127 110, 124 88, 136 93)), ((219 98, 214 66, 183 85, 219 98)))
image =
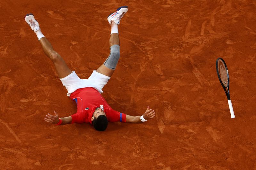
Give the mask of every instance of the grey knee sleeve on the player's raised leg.
POLYGON ((117 62, 120 58, 120 46, 119 45, 113 45, 110 47, 110 54, 107 58, 107 60, 104 62, 104 66, 115 70, 117 62))

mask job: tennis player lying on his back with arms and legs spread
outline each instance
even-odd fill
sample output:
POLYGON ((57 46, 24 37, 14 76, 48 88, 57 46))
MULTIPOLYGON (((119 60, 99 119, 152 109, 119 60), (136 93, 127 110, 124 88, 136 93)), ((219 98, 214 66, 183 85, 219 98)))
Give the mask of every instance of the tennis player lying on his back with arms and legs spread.
POLYGON ((46 122, 57 125, 90 123, 93 124, 96 130, 104 131, 108 126, 108 122, 142 123, 155 117, 155 111, 150 109, 149 106, 142 116, 129 116, 120 113, 113 110, 103 96, 101 96, 103 92, 102 88, 114 73, 120 57, 117 25, 119 25, 120 19, 127 11, 128 6, 121 6, 116 12, 108 16, 108 22, 111 25, 109 39, 110 54, 104 64, 97 70, 94 70, 88 79, 80 79, 75 71, 71 71, 68 68, 60 54, 53 50, 51 43, 42 34, 40 26, 33 14, 30 13, 25 16, 25 21, 36 33, 44 53, 52 60, 62 84, 68 90, 67 96, 75 101, 77 105, 77 112, 69 117, 59 118, 56 111, 54 111, 55 116, 48 113, 44 117, 46 122))

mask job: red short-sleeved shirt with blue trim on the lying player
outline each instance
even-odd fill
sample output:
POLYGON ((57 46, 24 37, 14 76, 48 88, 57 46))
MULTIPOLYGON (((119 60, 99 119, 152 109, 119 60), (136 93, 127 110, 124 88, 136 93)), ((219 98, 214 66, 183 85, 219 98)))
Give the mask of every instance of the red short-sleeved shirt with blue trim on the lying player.
POLYGON ((92 114, 97 107, 105 112, 109 122, 126 122, 126 114, 113 110, 99 91, 92 87, 77 89, 70 98, 77 105, 77 112, 71 115, 72 123, 92 124, 92 114))

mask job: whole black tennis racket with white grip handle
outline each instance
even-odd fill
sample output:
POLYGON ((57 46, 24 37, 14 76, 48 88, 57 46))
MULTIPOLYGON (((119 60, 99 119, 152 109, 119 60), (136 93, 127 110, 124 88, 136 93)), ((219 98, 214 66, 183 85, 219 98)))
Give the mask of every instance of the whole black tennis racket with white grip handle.
POLYGON ((226 96, 228 98, 228 106, 231 114, 231 118, 235 118, 234 110, 232 107, 232 103, 230 100, 230 95, 229 95, 229 74, 228 74, 228 67, 225 63, 225 61, 222 58, 218 58, 216 60, 216 70, 217 74, 220 80, 220 84, 223 87, 226 96))

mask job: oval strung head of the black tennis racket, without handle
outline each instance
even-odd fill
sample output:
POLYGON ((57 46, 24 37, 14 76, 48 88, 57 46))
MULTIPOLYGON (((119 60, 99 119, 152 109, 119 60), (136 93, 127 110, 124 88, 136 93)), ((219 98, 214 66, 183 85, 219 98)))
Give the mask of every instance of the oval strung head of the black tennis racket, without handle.
POLYGON ((216 70, 217 70, 218 78, 220 80, 220 84, 222 85, 222 87, 228 88, 229 87, 228 67, 222 58, 218 58, 216 60, 216 70))

